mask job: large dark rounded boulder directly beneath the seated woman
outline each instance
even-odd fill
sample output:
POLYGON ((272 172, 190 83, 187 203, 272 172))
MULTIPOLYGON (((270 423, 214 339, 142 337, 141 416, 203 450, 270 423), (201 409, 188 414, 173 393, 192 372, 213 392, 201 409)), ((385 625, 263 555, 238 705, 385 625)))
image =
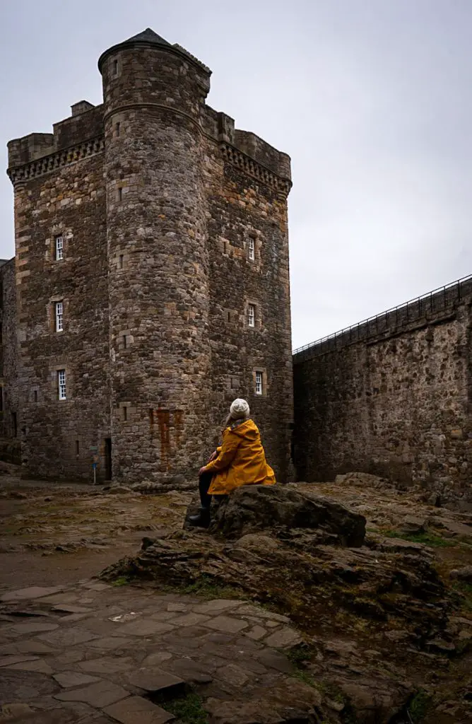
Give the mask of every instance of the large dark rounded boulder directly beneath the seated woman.
POLYGON ((210 532, 238 538, 267 529, 321 529, 343 546, 358 547, 366 536, 366 518, 290 485, 245 485, 220 503, 210 532))

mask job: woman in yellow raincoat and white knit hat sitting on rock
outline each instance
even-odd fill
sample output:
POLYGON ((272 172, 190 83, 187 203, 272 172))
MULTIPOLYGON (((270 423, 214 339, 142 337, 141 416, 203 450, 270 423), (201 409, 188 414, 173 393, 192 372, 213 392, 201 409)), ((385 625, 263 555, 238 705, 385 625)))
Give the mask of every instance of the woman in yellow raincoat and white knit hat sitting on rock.
POLYGON ((249 418, 249 405, 238 398, 229 408, 223 444, 198 473, 201 508, 190 515, 193 526, 208 528, 212 495, 227 495, 241 485, 273 485, 274 471, 266 463, 258 427, 249 418))

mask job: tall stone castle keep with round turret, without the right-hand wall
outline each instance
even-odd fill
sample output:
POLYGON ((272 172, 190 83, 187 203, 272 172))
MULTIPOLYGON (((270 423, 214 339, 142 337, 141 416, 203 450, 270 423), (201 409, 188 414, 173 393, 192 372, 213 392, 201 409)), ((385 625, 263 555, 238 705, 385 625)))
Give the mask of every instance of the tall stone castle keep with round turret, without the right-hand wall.
POLYGON ((246 397, 284 481, 290 158, 208 106, 211 71, 153 30, 98 69, 103 104, 8 144, 4 457, 24 476, 195 484, 246 397))

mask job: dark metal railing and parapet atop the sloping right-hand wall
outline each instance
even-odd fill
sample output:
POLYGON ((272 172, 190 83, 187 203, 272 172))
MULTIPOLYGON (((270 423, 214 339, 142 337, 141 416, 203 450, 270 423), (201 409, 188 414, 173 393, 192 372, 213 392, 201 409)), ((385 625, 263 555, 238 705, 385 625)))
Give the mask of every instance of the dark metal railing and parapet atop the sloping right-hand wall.
POLYGON ((339 332, 328 334, 315 342, 298 347, 293 350, 293 355, 300 355, 308 352, 308 350, 315 351, 315 348, 316 353, 322 354, 326 349, 337 349, 338 340, 341 340, 339 346, 366 340, 368 337, 387 332, 392 327, 398 327, 399 324, 409 324, 415 319, 425 316, 428 312, 442 311, 460 301, 468 293, 472 293, 472 274, 457 279, 444 287, 438 287, 432 292, 421 295, 421 297, 410 299, 408 302, 387 309, 380 314, 363 319, 358 324, 352 324, 350 327, 340 329, 339 332))

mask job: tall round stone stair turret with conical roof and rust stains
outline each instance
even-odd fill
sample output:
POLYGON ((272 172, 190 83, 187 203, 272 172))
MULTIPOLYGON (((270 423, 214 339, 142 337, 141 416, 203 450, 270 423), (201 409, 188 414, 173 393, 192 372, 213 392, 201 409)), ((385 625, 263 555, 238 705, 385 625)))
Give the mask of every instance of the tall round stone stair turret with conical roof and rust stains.
POLYGON ((104 86, 112 468, 190 481, 208 445, 201 114, 210 70, 152 30, 98 60, 104 86))

